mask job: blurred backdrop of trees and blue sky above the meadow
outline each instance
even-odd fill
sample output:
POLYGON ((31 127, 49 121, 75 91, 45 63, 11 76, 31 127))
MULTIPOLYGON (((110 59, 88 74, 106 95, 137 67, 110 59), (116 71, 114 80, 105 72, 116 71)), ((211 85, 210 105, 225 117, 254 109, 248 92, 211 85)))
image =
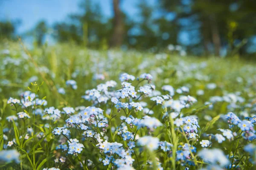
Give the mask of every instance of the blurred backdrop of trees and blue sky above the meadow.
POLYGON ((256 58, 256 0, 0 0, 0 42, 256 58))

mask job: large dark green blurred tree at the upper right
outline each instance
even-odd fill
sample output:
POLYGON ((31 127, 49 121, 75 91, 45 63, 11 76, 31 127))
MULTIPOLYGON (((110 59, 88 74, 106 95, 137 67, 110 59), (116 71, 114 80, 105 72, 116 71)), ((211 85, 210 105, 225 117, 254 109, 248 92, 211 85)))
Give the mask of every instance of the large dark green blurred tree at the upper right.
POLYGON ((175 21, 184 18, 192 21, 187 29, 200 31, 201 41, 196 46, 203 46, 205 54, 214 47, 215 56, 220 55, 222 47, 233 51, 235 42, 244 42, 244 38, 253 36, 256 28, 256 12, 252 0, 161 0, 166 11, 177 14, 175 21), (199 23, 199 27, 195 27, 199 23), (235 23, 235 27, 234 26, 235 23), (250 26, 249 26, 250 25, 250 26))

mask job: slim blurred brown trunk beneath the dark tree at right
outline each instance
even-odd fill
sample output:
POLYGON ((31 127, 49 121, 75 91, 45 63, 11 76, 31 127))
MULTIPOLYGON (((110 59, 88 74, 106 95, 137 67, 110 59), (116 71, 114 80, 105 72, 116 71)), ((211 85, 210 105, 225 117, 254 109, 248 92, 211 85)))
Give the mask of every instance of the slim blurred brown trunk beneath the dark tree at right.
POLYGON ((212 15, 210 23, 211 23, 211 30, 212 30, 212 42, 214 45, 214 53, 215 53, 215 56, 219 57, 220 50, 221 50, 221 38, 220 38, 218 25, 214 15, 212 15))

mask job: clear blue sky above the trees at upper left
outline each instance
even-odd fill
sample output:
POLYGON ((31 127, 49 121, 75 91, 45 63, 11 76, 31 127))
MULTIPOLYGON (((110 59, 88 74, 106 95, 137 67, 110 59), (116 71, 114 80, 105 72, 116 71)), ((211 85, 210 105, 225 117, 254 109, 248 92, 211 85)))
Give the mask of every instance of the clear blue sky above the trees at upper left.
MULTIPOLYGON (((112 0, 93 0, 99 2, 106 17, 111 17, 112 0)), ((22 21, 18 33, 28 31, 40 20, 46 20, 52 25, 58 21, 67 20, 67 15, 79 12, 81 0, 4 0, 1 4, 0 19, 22 21)), ((138 0, 122 0, 121 8, 126 14, 135 17, 138 0)), ((148 0, 154 4, 155 0, 148 0)))

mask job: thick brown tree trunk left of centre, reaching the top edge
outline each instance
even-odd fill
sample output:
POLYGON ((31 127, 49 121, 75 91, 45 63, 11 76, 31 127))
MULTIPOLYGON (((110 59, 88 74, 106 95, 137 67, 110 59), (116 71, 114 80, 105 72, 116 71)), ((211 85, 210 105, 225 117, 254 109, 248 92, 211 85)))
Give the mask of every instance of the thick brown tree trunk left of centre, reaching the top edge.
POLYGON ((124 26, 122 21, 122 12, 119 8, 120 0, 113 0, 114 10, 114 32, 111 39, 111 47, 120 47, 123 41, 124 26))

